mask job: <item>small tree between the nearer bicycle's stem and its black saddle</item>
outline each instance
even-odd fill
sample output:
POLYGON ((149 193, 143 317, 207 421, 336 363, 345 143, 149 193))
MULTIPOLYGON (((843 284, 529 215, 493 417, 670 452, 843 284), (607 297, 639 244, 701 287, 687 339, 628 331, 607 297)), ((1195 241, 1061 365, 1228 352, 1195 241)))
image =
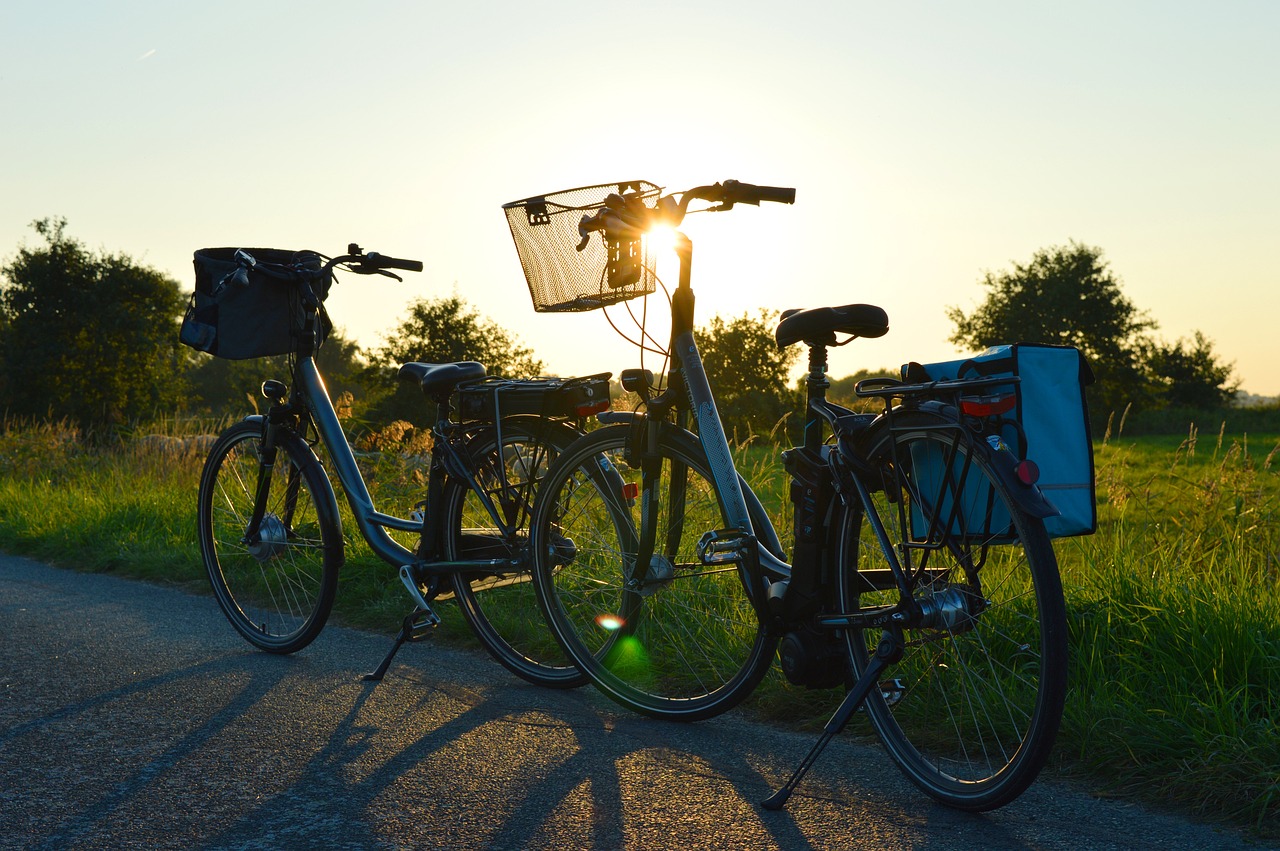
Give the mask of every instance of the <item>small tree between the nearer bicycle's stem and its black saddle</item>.
POLYGON ((777 314, 762 310, 728 321, 716 316, 699 329, 703 366, 731 438, 769 435, 783 417, 799 415, 803 397, 787 383, 799 349, 778 348, 776 325, 777 314))

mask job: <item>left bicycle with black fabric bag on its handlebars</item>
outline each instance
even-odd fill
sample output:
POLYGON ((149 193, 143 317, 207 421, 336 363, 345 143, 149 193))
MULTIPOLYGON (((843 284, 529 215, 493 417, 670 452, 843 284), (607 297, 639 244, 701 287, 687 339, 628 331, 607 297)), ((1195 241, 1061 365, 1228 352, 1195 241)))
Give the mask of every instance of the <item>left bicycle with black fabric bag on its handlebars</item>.
POLYGON ((439 623, 451 595, 493 656, 539 685, 585 682, 548 632, 530 584, 529 514, 550 461, 580 436, 582 417, 609 406, 608 375, 486 378, 476 362, 404 363, 399 378, 434 406, 426 493, 410 517, 380 513, 329 398, 315 352, 328 331, 323 301, 334 271, 420 271, 422 264, 358 246, 337 257, 278 250, 196 253, 196 293, 183 342, 218 357, 289 356, 289 380, 269 380, 265 415, 227 429, 200 479, 198 531, 218 603, 239 633, 293 653, 321 631, 344 561, 332 472, 360 534, 398 568, 413 610, 399 646, 439 623), (314 448, 323 444, 326 471, 314 448), (410 549, 390 531, 416 539, 410 549))

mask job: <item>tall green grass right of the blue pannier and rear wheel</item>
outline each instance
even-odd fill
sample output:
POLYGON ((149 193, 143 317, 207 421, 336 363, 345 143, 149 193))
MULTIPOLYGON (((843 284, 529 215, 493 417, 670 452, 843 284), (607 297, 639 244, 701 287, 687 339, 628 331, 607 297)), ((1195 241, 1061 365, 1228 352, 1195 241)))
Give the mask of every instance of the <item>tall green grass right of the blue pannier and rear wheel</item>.
POLYGON ((1073 699, 1060 756, 1280 833, 1280 443, 1098 447, 1100 529, 1060 541, 1073 699))

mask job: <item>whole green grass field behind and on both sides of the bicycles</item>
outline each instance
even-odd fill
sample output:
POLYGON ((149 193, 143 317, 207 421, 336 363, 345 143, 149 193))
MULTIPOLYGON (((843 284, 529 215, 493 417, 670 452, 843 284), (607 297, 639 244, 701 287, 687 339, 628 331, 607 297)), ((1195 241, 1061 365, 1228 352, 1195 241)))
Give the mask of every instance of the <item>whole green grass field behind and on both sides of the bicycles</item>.
MULTIPOLYGON (((195 544, 202 447, 182 436, 216 427, 163 424, 160 436, 108 450, 63 426, 6 425, 0 548, 206 587, 195 544)), ((786 485, 771 457, 748 448, 741 467, 781 507, 786 485)), ((1280 836, 1280 435, 1110 436, 1096 468, 1098 534, 1056 545, 1073 667, 1053 770, 1280 836)), ((384 463, 367 477, 390 500, 384 511, 412 507, 413 470, 384 463)), ((410 603, 346 529, 335 617, 389 635, 410 603)), ((454 608, 443 609, 442 637, 471 642, 454 608)), ((748 710, 817 726, 838 699, 773 672, 748 710)))

